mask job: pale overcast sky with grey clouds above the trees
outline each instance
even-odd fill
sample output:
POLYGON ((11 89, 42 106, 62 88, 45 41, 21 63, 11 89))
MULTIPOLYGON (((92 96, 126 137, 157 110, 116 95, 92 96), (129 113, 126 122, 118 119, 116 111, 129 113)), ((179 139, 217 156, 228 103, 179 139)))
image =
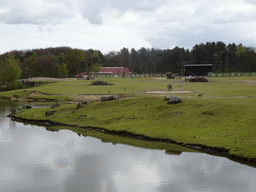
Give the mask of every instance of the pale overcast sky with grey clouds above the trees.
POLYGON ((0 54, 191 49, 212 41, 256 47, 256 0, 0 0, 0 54))

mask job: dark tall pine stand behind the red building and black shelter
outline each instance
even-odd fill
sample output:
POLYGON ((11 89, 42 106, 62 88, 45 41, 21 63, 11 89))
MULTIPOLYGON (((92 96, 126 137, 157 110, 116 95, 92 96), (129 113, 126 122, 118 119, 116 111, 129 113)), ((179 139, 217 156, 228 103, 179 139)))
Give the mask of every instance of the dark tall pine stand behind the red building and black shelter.
POLYGON ((171 71, 184 74, 186 64, 213 64, 213 72, 256 71, 255 48, 219 42, 196 44, 192 50, 127 48, 105 55, 106 67, 128 67, 134 73, 165 73, 171 71))

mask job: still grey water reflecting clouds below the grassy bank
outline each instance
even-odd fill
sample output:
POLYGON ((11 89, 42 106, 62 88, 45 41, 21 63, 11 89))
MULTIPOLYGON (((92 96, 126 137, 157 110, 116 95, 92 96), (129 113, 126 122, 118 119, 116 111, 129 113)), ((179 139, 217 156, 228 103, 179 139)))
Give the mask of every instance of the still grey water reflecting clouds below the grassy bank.
POLYGON ((0 101, 1 192, 256 191, 254 167, 179 146, 180 152, 171 145, 167 152, 147 149, 146 141, 124 139, 141 142, 141 148, 121 144, 122 138, 113 144, 69 130, 47 131, 7 118, 17 106, 0 101))

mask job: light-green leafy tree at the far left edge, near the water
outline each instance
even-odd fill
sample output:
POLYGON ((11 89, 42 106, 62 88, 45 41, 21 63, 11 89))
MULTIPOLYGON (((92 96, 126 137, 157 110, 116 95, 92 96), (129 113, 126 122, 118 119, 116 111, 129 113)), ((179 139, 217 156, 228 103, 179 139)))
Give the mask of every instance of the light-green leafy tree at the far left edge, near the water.
POLYGON ((19 60, 9 53, 5 60, 0 61, 0 89, 11 90, 20 87, 21 82, 18 81, 20 75, 19 60))

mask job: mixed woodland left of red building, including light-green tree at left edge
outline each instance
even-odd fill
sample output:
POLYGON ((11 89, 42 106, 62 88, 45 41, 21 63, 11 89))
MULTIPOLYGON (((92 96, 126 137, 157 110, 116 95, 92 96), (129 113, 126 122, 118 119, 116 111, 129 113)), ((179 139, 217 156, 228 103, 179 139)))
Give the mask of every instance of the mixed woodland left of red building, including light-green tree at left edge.
POLYGON ((21 87, 19 78, 74 77, 78 73, 103 66, 99 50, 80 50, 69 47, 11 51, 0 55, 0 90, 21 87))

